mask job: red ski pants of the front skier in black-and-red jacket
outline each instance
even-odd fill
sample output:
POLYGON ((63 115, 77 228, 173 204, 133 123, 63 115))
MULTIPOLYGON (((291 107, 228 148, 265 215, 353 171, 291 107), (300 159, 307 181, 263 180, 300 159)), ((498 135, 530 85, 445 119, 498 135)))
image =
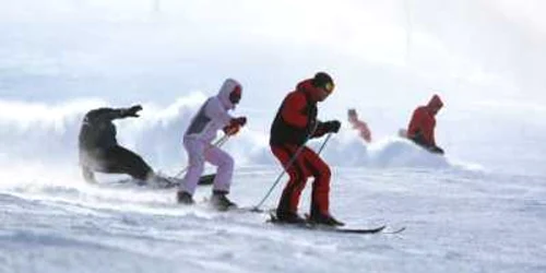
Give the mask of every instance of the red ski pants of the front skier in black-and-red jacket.
POLYGON ((321 213, 330 215, 330 167, 314 151, 307 146, 301 150, 292 165, 287 166, 297 150, 298 146, 293 144, 271 145, 271 151, 290 177, 283 190, 277 211, 297 213, 301 191, 306 186, 307 179, 313 177, 311 214, 321 213))

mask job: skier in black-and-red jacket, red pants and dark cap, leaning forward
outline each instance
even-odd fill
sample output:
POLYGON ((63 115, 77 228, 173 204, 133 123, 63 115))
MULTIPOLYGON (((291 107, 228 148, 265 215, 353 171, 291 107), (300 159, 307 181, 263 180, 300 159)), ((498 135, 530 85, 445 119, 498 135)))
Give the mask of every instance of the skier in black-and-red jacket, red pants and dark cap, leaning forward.
POLYGON ((276 209, 280 222, 306 222, 297 214, 299 197, 307 179, 313 177, 310 221, 331 226, 343 225, 330 214, 330 167, 305 146, 309 139, 340 130, 337 120, 317 120, 317 103, 323 102, 333 90, 332 78, 324 72, 317 73, 314 78, 298 83, 296 91, 284 98, 273 121, 271 151, 289 175, 276 209))

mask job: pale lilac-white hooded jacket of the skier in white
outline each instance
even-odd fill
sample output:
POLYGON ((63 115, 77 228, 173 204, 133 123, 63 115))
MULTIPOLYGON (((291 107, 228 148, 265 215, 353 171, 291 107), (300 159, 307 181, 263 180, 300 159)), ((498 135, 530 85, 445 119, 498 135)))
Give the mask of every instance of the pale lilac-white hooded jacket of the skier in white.
POLYGON ((229 124, 233 119, 227 114, 228 110, 235 109, 235 105, 229 100, 229 94, 237 86, 242 88, 236 80, 227 79, 219 88, 218 94, 206 99, 201 106, 201 109, 199 109, 186 130, 185 139, 191 138, 206 143, 214 140, 216 132, 229 124))

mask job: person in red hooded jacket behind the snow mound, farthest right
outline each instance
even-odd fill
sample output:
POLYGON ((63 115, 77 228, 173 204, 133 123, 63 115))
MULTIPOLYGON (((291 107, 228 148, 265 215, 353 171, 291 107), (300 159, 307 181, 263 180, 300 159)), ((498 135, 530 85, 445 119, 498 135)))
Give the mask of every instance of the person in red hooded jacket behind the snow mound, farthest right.
POLYGON ((425 106, 419 106, 413 112, 407 127, 407 138, 417 145, 431 153, 443 154, 443 150, 436 144, 435 127, 436 114, 442 108, 443 103, 438 95, 434 95, 425 106))

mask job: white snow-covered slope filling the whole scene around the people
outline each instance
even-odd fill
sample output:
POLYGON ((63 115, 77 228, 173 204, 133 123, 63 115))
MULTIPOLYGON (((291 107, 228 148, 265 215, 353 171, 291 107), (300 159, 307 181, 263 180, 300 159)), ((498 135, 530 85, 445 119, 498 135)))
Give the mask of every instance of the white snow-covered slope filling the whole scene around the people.
POLYGON ((0 272, 546 272, 541 1, 0 5, 0 272), (268 146, 276 107, 317 70, 336 79, 320 118, 344 122, 356 108, 373 138, 344 123, 327 143, 333 215, 403 233, 273 226, 266 213, 211 210, 210 187, 187 207, 175 189, 81 178, 88 109, 142 104, 141 118, 116 121, 118 140, 174 175, 190 117, 235 76, 245 85, 235 115, 249 123, 224 145, 236 158, 229 195, 254 206, 281 173, 268 146), (446 157, 395 136, 432 92, 446 100, 446 157))

